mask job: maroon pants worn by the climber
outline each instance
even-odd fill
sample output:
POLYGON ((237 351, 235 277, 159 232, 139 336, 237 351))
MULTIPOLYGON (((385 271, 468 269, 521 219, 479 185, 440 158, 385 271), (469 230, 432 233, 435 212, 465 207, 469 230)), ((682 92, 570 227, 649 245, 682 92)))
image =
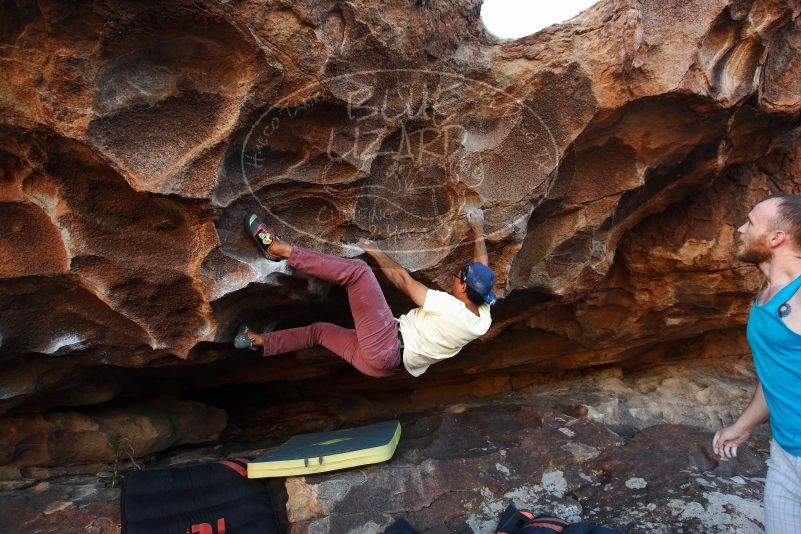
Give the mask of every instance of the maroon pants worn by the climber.
POLYGON ((392 375, 393 368, 401 360, 398 322, 370 266, 363 260, 330 256, 294 246, 287 261, 305 273, 344 286, 356 328, 312 323, 269 332, 262 335, 264 355, 322 345, 366 375, 392 375))

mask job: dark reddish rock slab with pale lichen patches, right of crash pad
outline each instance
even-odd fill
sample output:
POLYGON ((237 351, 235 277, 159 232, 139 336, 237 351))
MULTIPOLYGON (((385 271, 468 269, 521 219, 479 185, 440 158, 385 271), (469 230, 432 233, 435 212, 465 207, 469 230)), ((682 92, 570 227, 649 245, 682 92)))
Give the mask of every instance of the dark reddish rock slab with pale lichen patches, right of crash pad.
POLYGON ((292 532, 379 533, 401 516, 420 532, 491 533, 510 503, 632 533, 762 531, 766 442, 722 463, 695 427, 654 426, 624 442, 558 414, 535 412, 540 429, 531 414, 488 411, 421 422, 436 428, 410 431, 431 443, 387 466, 289 479, 292 532))

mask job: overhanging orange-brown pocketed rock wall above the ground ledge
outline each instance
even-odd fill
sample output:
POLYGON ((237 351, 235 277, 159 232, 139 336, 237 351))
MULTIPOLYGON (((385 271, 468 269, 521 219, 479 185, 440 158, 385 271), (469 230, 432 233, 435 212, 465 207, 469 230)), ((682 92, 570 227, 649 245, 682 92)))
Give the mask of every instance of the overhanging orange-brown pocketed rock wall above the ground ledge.
MULTIPOLYGON (((314 392, 334 374, 435 402, 747 350, 759 277, 733 259, 735 229, 801 190, 794 2, 604 0, 514 41, 486 32, 477 0, 2 9, 4 424, 44 433, 57 408, 314 392), (425 380, 230 347, 245 319, 349 321, 338 288, 258 256, 245 211, 324 252, 370 236, 447 290, 471 256, 468 205, 501 300, 485 339, 425 380)), ((6 461, 42 465, 29 457, 6 461)))

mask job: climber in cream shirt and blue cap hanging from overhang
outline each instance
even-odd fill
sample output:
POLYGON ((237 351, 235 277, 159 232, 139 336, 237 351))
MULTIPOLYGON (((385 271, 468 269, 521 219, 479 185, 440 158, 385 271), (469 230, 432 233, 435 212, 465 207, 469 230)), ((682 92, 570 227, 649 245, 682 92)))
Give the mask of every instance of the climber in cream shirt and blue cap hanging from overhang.
POLYGON ((427 288, 374 241, 359 240, 358 245, 378 262, 392 284, 419 306, 396 319, 364 260, 290 245, 258 216, 246 214, 247 231, 268 257, 287 258, 292 267, 346 288, 356 328, 318 322, 259 334, 242 325, 234 345, 254 350, 262 347, 265 356, 322 345, 369 376, 391 376, 403 368, 412 376, 422 375, 429 365, 456 355, 485 334, 492 321, 495 275, 488 266, 484 244, 484 214, 468 208, 466 215, 475 241, 474 258, 454 274, 451 293, 427 288))

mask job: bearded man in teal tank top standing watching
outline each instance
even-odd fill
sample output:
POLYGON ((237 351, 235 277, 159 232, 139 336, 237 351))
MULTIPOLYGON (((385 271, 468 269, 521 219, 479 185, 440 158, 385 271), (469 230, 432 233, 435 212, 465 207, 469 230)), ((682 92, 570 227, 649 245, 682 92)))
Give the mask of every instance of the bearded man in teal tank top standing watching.
POLYGON ((757 383, 751 403, 715 434, 712 447, 733 458, 754 428, 770 419, 765 531, 801 533, 801 196, 768 197, 737 231, 737 256, 766 278, 748 317, 757 383))

